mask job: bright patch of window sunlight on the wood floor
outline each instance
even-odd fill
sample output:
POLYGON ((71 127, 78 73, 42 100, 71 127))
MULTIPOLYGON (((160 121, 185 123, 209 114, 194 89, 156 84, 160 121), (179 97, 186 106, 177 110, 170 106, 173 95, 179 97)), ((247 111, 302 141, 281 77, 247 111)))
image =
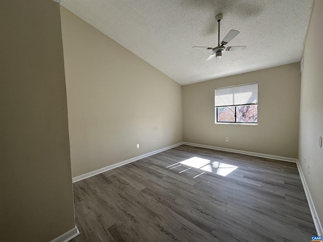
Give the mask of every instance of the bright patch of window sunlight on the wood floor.
MULTIPOLYGON (((173 169, 175 167, 180 166, 177 164, 184 164, 184 165, 190 166, 190 168, 194 167, 194 168, 198 168, 198 169, 203 170, 203 172, 200 173, 199 175, 201 175, 201 174, 205 173, 205 171, 207 171, 207 172, 217 173, 218 175, 227 176, 232 171, 234 171, 235 169, 238 168, 238 166, 235 166, 235 165, 230 165, 230 164, 226 164, 226 163, 222 163, 222 162, 218 162, 218 161, 211 161, 211 160, 199 158, 196 156, 189 158, 187 160, 183 160, 183 161, 178 162, 176 164, 169 165, 166 168, 173 166, 170 168, 170 169, 173 169), (174 166, 174 165, 177 165, 177 166, 174 166)), ((190 168, 188 168, 188 169, 190 169, 190 168)), ((182 173, 183 171, 186 171, 188 169, 184 169, 184 170, 180 171, 179 173, 182 173)), ((196 175, 193 178, 195 178, 199 175, 196 175)))

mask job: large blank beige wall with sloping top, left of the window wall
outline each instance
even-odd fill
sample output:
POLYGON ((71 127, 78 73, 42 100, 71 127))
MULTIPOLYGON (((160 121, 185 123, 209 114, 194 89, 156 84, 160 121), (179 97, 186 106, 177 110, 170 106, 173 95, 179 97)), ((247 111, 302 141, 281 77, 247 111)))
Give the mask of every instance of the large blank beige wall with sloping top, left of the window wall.
POLYGON ((63 7, 61 18, 73 177, 182 142, 181 85, 63 7))

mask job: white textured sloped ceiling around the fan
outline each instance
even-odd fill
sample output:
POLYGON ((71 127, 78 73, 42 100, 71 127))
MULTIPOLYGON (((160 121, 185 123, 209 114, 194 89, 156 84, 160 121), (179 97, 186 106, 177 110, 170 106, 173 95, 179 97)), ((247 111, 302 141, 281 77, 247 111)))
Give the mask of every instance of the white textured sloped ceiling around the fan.
POLYGON ((313 0, 61 0, 61 5, 182 85, 299 62, 313 0), (221 59, 205 62, 230 29, 221 59))

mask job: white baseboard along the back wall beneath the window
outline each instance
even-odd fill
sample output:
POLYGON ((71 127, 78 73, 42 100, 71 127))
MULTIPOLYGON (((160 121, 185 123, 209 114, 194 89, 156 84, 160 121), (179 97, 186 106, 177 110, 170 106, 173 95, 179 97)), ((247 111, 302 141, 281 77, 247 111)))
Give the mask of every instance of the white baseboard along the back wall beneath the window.
POLYGON ((196 147, 201 147, 201 148, 206 148, 206 149, 211 149, 211 150, 221 150, 221 151, 227 151, 227 152, 244 154, 244 155, 252 155, 252 156, 269 158, 269 159, 274 159, 274 160, 283 160, 283 161, 289 161, 289 162, 294 162, 294 163, 297 162, 297 159, 295 159, 295 158, 278 156, 278 155, 267 155, 267 154, 255 153, 255 152, 250 152, 250 151, 234 150, 234 149, 228 149, 228 148, 222 148, 222 147, 216 147, 216 146, 210 146, 210 145, 200 145, 200 144, 194 144, 194 143, 188 143, 188 142, 183 142, 183 145, 196 146, 196 147))

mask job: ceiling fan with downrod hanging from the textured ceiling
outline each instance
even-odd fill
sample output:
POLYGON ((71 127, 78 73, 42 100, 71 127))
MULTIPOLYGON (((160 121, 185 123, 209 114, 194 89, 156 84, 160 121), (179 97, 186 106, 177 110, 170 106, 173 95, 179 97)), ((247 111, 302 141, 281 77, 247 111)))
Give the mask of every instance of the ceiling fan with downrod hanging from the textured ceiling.
POLYGON ((224 37, 220 44, 220 22, 223 18, 222 14, 218 14, 216 16, 216 21, 219 23, 219 33, 218 33, 218 46, 217 47, 204 47, 204 46, 193 46, 192 48, 202 48, 202 49, 211 49, 212 53, 210 56, 207 57, 205 61, 209 61, 212 59, 214 56, 217 58, 222 57, 222 52, 224 51, 239 51, 239 50, 244 50, 245 47, 247 46, 228 46, 226 47, 225 45, 228 44, 234 37, 236 37, 240 32, 237 30, 230 30, 229 33, 224 37))

